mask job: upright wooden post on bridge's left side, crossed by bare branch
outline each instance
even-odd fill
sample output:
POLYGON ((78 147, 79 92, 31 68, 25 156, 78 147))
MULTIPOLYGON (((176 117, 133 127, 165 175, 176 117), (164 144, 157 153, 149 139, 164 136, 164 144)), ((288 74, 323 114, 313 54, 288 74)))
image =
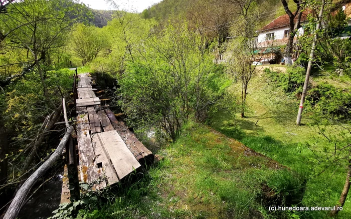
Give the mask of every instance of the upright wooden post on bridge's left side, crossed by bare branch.
MULTIPOLYGON (((66 112, 66 102, 65 98, 62 99, 63 112, 65 116, 66 127, 69 127, 67 112, 66 112)), ((71 201, 79 200, 79 179, 78 179, 78 163, 77 163, 77 154, 76 147, 73 147, 73 138, 72 135, 66 144, 66 159, 67 159, 67 170, 68 170, 68 181, 71 193, 71 201)))

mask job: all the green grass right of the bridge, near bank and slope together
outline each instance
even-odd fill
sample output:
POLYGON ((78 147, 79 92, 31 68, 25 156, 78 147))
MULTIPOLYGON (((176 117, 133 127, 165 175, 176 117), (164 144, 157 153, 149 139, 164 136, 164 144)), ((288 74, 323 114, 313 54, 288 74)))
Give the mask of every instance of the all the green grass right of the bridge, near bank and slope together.
MULTIPOLYGON (((345 177, 342 167, 315 175, 323 167, 306 144, 326 142, 306 115, 304 125, 295 125, 296 97, 270 87, 262 74, 252 80, 246 118, 220 111, 210 122, 214 129, 189 122, 141 179, 109 191, 107 201, 78 218, 327 218, 323 211, 268 210, 284 203, 333 206, 345 177)), ((349 218, 350 207, 347 198, 338 218, 349 218)))

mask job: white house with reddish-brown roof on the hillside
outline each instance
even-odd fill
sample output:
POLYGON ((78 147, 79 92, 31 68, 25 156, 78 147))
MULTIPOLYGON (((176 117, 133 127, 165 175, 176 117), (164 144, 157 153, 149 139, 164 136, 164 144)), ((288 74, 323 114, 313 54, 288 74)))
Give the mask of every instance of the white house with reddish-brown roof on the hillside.
MULTIPOLYGON (((296 20, 297 18, 295 18, 296 20)), ((302 13, 301 25, 307 20, 307 13, 302 13)), ((289 37, 289 16, 281 15, 268 23, 258 31, 257 46, 259 48, 286 45, 289 37)), ((304 33, 303 28, 299 28, 295 37, 304 33)))

